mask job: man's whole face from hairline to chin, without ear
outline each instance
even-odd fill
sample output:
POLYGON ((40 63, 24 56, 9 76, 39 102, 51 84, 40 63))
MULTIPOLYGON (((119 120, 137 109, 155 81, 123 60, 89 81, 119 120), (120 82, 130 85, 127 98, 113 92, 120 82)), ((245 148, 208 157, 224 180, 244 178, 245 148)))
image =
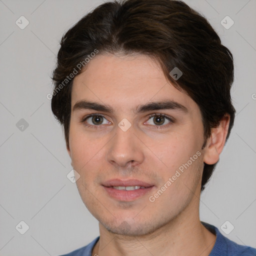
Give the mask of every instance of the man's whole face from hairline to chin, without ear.
POLYGON ((203 141, 199 107, 148 56, 97 55, 73 80, 67 150, 111 232, 147 234, 196 208, 203 141))

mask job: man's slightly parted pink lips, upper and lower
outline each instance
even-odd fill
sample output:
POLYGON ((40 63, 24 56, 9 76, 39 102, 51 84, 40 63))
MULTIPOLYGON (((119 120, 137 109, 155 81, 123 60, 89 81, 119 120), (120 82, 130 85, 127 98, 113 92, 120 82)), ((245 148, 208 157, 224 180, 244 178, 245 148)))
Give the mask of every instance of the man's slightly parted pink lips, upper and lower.
POLYGON ((149 191, 154 187, 153 184, 149 184, 138 179, 110 179, 105 181, 102 186, 110 197, 119 201, 133 201, 138 197, 149 193, 149 191), (112 186, 144 186, 145 188, 139 188, 135 190, 118 190, 112 186))

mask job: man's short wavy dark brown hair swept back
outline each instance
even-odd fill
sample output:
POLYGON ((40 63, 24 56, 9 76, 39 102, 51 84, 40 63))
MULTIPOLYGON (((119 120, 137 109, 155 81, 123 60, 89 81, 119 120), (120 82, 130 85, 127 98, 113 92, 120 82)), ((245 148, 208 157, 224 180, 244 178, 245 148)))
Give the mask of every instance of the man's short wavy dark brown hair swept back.
MULTIPOLYGON (((64 127, 67 145, 73 78, 66 84, 63 80, 95 49, 154 57, 166 78, 199 106, 205 141, 226 113, 230 115, 228 138, 235 113, 230 97, 233 58, 208 21, 178 0, 114 0, 82 17, 60 41, 51 109, 64 127), (182 71, 178 80, 169 74, 174 67, 182 71)), ((204 163, 201 190, 215 165, 204 163)))

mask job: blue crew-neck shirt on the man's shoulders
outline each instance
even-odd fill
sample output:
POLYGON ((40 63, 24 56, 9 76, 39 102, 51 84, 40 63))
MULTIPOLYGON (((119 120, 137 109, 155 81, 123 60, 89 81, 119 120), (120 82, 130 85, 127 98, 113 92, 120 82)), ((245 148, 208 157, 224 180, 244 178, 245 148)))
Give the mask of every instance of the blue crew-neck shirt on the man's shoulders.
MULTIPOLYGON (((211 231, 216 235, 216 241, 209 256, 255 256, 256 255, 255 248, 245 246, 245 245, 239 245, 229 240, 224 235, 222 235, 215 226, 202 221, 201 223, 209 231, 211 231)), ((61 256, 91 256, 92 248, 96 244, 98 239, 99 239, 99 236, 96 237, 93 241, 91 241, 86 246, 61 256)))

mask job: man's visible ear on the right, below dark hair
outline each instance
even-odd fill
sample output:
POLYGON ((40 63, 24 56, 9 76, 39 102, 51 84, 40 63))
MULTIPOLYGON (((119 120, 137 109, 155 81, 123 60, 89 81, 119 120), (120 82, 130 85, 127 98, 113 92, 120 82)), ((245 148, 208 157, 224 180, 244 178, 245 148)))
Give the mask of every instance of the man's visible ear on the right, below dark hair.
POLYGON ((203 161, 207 164, 214 164, 219 160, 219 154, 221 153, 228 131, 230 116, 225 114, 219 122, 216 128, 212 128, 211 135, 207 139, 206 146, 204 148, 203 161))

